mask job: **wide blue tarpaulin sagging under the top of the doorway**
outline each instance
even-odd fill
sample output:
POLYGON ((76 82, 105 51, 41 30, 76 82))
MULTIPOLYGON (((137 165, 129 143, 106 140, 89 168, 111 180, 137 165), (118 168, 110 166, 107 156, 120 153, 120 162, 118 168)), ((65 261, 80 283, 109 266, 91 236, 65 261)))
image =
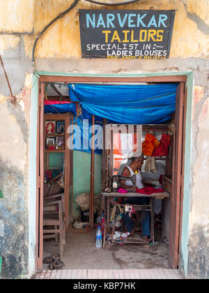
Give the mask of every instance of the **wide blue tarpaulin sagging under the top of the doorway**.
POLYGON ((70 99, 82 103, 84 117, 94 114, 115 123, 155 124, 171 119, 178 84, 69 84, 70 99))

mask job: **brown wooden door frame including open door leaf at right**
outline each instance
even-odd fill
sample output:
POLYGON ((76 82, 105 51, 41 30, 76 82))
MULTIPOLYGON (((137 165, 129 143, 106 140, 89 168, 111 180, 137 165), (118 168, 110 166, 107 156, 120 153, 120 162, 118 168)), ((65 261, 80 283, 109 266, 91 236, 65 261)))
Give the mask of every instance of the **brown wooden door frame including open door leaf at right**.
POLYGON ((148 83, 167 83, 167 82, 178 82, 178 89, 176 95, 176 117, 175 117, 175 128, 176 135, 173 142, 174 145, 174 161, 173 164, 173 176, 171 178, 171 223, 170 223, 170 235, 171 240, 169 241, 169 262, 172 268, 177 268, 179 264, 179 253, 180 253, 180 229, 181 229, 181 218, 182 218, 182 204, 183 204, 183 166, 184 166, 184 132, 185 132, 185 76, 167 76, 167 77, 61 77, 61 76, 41 76, 39 79, 39 110, 38 110, 38 146, 37 146, 37 177, 40 184, 37 188, 37 202, 38 202, 38 230, 36 243, 37 253, 37 269, 42 269, 42 200, 43 200, 43 188, 44 188, 44 177, 45 170, 44 165, 44 97, 45 97, 45 83, 47 82, 63 82, 63 83, 133 83, 133 82, 148 82, 148 83))

